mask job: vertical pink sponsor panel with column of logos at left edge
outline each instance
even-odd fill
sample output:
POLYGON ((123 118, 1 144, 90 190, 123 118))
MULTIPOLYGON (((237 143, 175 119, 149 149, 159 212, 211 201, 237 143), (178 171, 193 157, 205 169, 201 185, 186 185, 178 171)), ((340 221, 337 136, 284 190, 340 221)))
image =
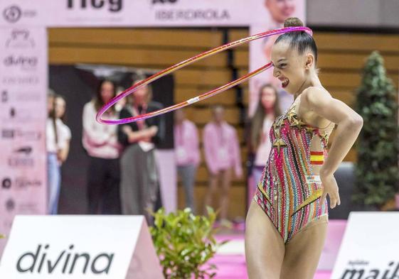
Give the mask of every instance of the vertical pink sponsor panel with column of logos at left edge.
POLYGON ((0 28, 0 234, 46 213, 47 69, 46 28, 0 28))

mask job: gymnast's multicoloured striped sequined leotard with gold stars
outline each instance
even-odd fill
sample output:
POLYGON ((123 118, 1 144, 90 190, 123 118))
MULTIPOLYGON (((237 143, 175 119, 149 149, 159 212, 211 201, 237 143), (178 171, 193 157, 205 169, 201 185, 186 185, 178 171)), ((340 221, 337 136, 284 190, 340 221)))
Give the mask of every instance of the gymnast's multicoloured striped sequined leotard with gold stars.
POLYGON ((321 204, 319 199, 322 187, 311 165, 310 148, 312 138, 319 136, 319 149, 326 158, 334 125, 321 131, 305 124, 297 116, 298 99, 270 128, 272 151, 254 197, 285 244, 311 221, 328 216, 327 202, 321 204))

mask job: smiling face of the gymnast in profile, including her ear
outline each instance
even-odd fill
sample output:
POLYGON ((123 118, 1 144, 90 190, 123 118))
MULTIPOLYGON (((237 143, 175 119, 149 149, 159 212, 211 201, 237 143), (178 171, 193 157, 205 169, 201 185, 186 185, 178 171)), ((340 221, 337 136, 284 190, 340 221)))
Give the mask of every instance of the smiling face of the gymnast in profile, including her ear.
POLYGON ((285 91, 296 94, 303 90, 309 69, 314 67, 313 59, 312 53, 300 55, 289 43, 281 41, 272 48, 273 76, 280 80, 285 91))

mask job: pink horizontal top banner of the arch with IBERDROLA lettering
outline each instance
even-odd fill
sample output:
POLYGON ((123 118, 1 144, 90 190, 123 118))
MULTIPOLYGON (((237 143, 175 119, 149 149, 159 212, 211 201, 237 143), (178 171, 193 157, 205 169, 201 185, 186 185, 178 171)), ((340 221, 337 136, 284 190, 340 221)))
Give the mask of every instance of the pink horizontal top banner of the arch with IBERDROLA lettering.
POLYGON ((0 4, 0 26, 248 26, 252 1, 9 0, 0 4))

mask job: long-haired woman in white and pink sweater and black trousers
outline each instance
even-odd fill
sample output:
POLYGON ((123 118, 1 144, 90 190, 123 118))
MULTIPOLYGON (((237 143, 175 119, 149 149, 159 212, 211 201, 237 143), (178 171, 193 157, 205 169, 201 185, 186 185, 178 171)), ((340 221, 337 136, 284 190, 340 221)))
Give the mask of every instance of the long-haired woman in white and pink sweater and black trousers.
MULTIPOLYGON (((101 80, 96 96, 83 108, 83 148, 89 155, 87 170, 87 205, 89 214, 120 214, 119 154, 117 126, 99 124, 95 115, 115 97, 115 83, 101 80)), ((105 119, 117 119, 115 106, 108 109, 105 119)))

